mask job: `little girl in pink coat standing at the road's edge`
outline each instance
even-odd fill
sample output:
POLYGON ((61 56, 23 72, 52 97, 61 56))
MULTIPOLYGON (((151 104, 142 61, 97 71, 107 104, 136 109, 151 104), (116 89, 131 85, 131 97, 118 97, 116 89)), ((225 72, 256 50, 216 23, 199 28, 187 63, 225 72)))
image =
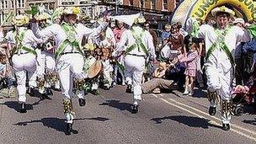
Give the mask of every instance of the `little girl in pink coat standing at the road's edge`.
POLYGON ((187 56, 180 60, 180 62, 184 62, 186 64, 186 70, 184 72, 184 74, 186 75, 184 95, 193 95, 196 63, 199 56, 197 51, 198 48, 199 45, 195 43, 190 44, 187 56))

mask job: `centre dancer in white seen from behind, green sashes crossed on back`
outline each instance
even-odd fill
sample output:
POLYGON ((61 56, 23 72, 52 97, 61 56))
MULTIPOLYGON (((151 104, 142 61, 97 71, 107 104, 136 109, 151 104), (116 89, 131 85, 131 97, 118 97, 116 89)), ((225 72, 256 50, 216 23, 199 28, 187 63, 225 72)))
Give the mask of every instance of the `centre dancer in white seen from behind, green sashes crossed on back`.
POLYGON ((138 103, 141 100, 141 79, 146 57, 149 56, 150 60, 154 61, 156 55, 152 35, 143 29, 146 19, 140 14, 133 20, 134 25, 131 29, 124 31, 116 51, 119 53, 125 51, 125 80, 128 89, 131 89, 131 85, 133 86, 134 102, 131 109, 132 113, 137 113, 138 103))

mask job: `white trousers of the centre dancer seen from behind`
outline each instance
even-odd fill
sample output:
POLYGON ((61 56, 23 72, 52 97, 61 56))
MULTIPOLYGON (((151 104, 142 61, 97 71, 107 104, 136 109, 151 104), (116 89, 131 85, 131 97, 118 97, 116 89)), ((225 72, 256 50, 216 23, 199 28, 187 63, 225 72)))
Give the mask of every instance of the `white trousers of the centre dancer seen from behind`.
POLYGON ((141 80, 143 70, 145 68, 145 58, 142 56, 127 55, 124 57, 125 64, 125 80, 127 84, 133 86, 133 99, 141 100, 141 80))

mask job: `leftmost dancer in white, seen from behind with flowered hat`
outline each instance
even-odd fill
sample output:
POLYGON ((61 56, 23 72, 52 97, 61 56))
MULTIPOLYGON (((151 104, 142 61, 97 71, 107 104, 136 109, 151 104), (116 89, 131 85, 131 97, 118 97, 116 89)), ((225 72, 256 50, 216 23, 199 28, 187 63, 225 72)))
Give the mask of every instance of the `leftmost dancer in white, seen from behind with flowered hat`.
MULTIPOLYGON (((44 40, 35 37, 31 29, 28 29, 29 17, 18 15, 13 19, 13 24, 17 26, 15 35, 16 46, 12 57, 13 69, 17 77, 17 89, 19 93, 20 113, 25 113, 26 102, 26 73, 29 77, 35 76, 36 52, 35 44, 43 43, 44 40)), ((35 86, 35 84, 33 84, 35 86)), ((29 86, 30 83, 29 83, 29 86)))

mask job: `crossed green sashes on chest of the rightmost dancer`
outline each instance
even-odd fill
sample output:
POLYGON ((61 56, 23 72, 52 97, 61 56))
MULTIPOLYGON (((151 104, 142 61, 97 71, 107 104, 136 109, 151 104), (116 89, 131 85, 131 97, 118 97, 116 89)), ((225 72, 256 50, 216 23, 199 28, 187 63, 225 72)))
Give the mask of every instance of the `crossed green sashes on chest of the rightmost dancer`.
POLYGON ((227 45, 225 44, 225 36, 227 35, 227 32, 230 30, 230 27, 228 26, 227 29, 225 29, 223 31, 223 33, 221 33, 221 31, 219 29, 215 29, 215 33, 216 33, 216 37, 217 40, 215 43, 213 43, 211 45, 211 47, 209 48, 209 50, 206 53, 205 56, 205 60, 207 61, 209 59, 209 56, 211 56, 212 52, 216 50, 216 47, 220 47, 222 51, 224 51, 230 61, 230 63, 232 64, 232 66, 235 66, 235 61, 234 58, 232 56, 231 51, 229 51, 227 45))

